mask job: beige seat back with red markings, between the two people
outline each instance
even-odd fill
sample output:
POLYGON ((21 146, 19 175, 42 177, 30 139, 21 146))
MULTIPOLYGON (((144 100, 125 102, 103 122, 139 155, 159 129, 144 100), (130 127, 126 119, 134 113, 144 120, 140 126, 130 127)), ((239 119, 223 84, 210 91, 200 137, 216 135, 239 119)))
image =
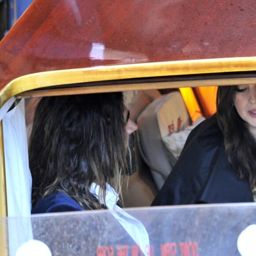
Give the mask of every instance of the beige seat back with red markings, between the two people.
POLYGON ((140 153, 160 189, 177 161, 162 138, 191 124, 180 92, 162 95, 151 102, 139 115, 137 124, 140 153))

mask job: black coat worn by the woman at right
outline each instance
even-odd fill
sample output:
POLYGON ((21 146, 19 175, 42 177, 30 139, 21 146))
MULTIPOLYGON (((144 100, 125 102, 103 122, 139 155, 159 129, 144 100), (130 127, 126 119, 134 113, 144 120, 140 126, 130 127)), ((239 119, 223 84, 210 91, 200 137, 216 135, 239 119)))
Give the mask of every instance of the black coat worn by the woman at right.
POLYGON ((189 134, 152 205, 253 202, 248 181, 229 164, 216 115, 189 134))

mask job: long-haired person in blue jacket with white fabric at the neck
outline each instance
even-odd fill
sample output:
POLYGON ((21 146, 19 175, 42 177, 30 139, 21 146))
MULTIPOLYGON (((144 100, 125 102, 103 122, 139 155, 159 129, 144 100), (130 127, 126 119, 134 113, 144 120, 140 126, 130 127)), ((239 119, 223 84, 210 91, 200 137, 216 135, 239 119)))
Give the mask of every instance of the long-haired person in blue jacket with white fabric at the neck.
POLYGON ((32 214, 115 209, 112 215, 145 252, 144 226, 117 205, 132 170, 128 137, 136 129, 122 93, 42 98, 29 147, 32 214))

